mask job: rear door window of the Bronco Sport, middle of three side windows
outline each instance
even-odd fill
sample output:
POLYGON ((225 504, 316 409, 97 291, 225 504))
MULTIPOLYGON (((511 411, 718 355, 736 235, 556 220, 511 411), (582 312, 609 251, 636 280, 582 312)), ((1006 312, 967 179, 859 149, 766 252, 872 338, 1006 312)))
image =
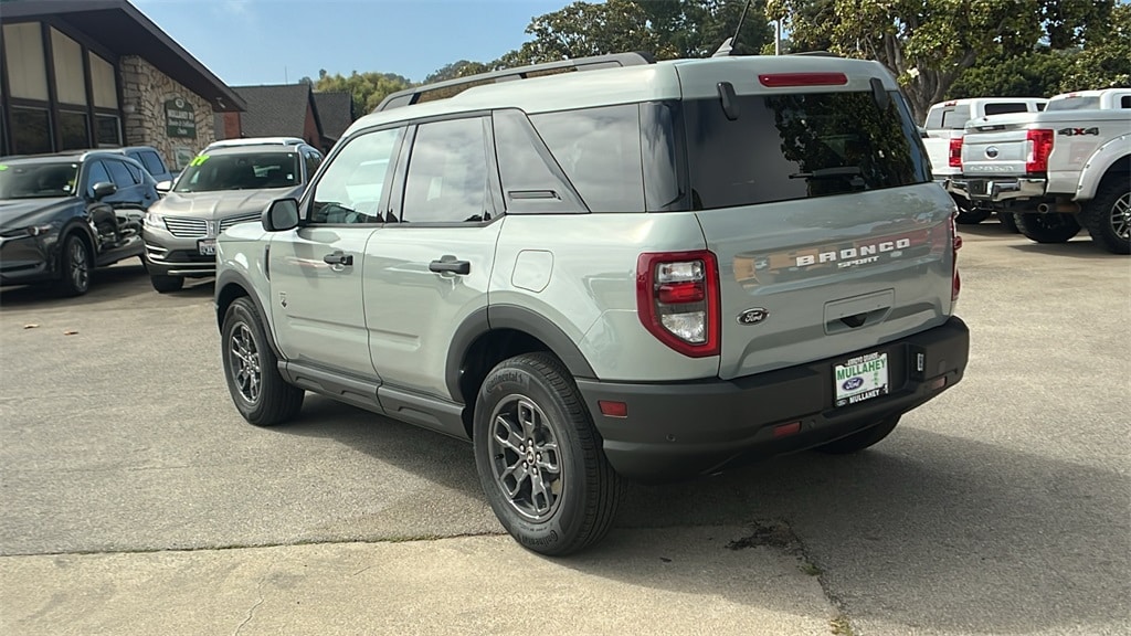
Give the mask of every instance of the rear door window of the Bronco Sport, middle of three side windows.
POLYGON ((465 223, 491 218, 483 119, 424 123, 416 131, 399 221, 465 223))

